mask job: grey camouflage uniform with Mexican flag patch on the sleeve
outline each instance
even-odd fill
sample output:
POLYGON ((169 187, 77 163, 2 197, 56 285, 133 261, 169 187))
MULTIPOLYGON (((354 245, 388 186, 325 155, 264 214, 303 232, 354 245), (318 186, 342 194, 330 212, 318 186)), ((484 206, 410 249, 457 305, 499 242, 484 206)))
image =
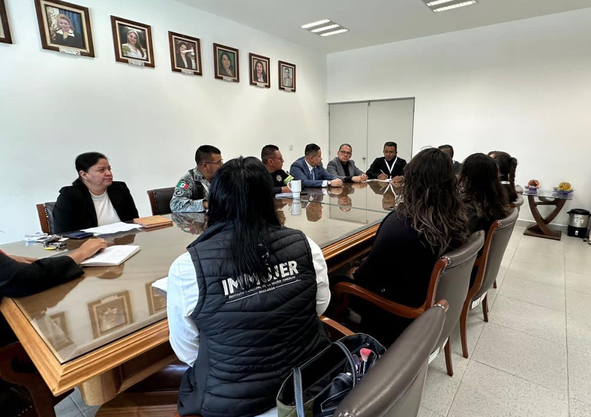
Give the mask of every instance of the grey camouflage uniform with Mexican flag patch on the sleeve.
POLYGON ((178 180, 170 201, 170 210, 173 213, 205 211, 203 202, 207 201, 210 186, 211 183, 199 170, 193 168, 178 180))

